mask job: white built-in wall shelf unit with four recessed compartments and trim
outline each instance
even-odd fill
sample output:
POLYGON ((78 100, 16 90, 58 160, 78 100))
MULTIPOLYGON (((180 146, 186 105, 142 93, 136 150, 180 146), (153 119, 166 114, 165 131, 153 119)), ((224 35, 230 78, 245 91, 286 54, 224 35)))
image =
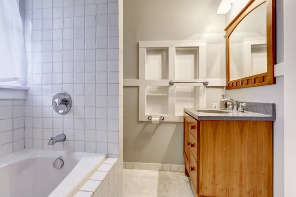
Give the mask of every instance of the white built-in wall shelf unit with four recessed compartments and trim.
POLYGON ((223 90, 225 81, 206 79, 204 41, 143 41, 139 42, 139 79, 125 79, 124 86, 139 86, 140 121, 163 116, 164 122, 183 122, 184 107, 206 108, 207 88, 223 90), (205 80, 207 86, 192 83, 205 80))

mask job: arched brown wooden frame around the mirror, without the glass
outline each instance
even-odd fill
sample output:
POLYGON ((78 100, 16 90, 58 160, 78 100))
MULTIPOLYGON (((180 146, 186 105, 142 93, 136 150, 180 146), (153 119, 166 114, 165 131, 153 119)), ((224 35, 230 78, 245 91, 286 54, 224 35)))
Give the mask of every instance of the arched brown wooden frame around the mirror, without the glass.
POLYGON ((249 3, 224 29, 226 31, 226 89, 249 88, 275 84, 275 0, 250 0, 249 3), (267 72, 230 81, 229 36, 239 23, 254 9, 266 2, 267 72))

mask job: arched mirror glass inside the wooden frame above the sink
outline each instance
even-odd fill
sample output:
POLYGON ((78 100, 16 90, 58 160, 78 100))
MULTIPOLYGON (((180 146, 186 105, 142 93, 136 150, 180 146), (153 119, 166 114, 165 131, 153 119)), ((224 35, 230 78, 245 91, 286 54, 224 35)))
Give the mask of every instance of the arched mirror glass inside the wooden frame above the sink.
POLYGON ((267 72, 266 2, 248 14, 229 37, 230 81, 267 72))

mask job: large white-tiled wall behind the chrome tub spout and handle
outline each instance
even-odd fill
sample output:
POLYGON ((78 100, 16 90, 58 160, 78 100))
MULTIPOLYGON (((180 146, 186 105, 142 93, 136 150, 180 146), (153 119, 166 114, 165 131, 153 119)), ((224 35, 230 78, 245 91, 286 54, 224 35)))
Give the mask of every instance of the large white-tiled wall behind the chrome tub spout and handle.
POLYGON ((122 0, 25 0, 28 149, 122 153, 122 0), (65 115, 52 96, 65 91, 65 115), (48 146, 65 133, 66 141, 48 146))

